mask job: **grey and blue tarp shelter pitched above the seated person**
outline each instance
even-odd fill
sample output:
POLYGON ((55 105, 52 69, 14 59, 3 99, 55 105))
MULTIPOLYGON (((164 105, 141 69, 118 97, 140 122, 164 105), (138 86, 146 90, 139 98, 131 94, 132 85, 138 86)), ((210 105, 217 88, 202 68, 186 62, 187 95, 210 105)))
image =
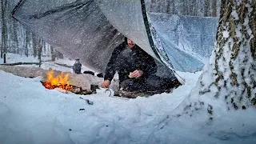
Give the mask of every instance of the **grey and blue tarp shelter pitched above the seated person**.
POLYGON ((21 0, 13 17, 66 56, 102 73, 125 36, 157 60, 158 75, 164 77, 173 76, 171 69, 202 69, 218 21, 147 13, 144 0, 21 0))

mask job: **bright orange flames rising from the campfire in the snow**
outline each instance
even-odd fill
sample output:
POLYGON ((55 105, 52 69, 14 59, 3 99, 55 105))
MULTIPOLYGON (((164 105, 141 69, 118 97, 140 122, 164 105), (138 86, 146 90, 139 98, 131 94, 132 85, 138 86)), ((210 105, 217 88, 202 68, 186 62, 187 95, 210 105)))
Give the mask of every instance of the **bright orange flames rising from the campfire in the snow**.
POLYGON ((47 89, 54 89, 56 87, 62 90, 72 90, 72 86, 70 86, 70 82, 68 82, 69 74, 59 74, 57 77, 54 77, 54 70, 50 70, 47 73, 47 80, 43 83, 43 85, 47 89))

